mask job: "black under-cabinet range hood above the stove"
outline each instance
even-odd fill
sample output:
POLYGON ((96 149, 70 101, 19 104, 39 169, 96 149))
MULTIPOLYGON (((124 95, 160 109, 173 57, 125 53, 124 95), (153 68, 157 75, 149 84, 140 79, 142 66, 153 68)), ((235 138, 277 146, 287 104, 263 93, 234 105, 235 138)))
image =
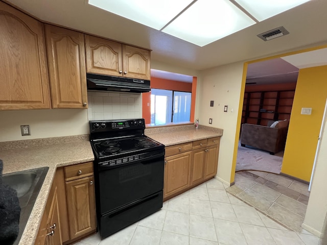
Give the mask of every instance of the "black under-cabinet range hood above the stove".
POLYGON ((87 90, 119 91, 143 93, 150 92, 150 80, 86 74, 87 90))

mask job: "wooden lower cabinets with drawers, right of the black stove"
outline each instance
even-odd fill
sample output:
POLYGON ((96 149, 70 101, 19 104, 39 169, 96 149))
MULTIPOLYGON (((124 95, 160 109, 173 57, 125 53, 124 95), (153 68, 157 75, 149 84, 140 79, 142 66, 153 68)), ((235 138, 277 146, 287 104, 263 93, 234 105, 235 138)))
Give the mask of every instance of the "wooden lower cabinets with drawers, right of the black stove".
POLYGON ((217 174, 219 142, 213 137, 166 147, 164 201, 217 174))

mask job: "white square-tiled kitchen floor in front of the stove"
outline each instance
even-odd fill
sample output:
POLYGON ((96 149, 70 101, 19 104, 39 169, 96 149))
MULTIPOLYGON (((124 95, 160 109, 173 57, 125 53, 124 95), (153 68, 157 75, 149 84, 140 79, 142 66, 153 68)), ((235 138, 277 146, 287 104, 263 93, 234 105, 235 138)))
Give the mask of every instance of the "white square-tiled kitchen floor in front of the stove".
POLYGON ((212 179, 164 203, 161 210, 103 240, 78 245, 320 245, 319 238, 291 231, 226 191, 212 179))

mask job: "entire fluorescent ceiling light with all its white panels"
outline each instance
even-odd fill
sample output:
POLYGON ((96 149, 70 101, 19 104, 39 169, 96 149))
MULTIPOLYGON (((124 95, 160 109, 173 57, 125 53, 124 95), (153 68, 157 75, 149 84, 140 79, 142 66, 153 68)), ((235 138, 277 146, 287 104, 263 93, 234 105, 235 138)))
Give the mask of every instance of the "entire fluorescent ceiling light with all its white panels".
POLYGON ((204 46, 309 1, 88 0, 88 4, 204 46))

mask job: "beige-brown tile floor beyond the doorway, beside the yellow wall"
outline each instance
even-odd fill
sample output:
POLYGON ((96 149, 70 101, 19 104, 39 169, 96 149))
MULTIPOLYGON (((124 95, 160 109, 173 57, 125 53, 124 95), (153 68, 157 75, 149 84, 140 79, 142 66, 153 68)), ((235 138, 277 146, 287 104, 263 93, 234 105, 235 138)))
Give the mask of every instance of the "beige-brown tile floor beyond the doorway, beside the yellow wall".
POLYGON ((235 185, 226 190, 291 230, 301 232, 309 200, 308 187, 281 175, 242 170, 235 174, 235 185))

